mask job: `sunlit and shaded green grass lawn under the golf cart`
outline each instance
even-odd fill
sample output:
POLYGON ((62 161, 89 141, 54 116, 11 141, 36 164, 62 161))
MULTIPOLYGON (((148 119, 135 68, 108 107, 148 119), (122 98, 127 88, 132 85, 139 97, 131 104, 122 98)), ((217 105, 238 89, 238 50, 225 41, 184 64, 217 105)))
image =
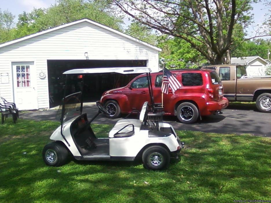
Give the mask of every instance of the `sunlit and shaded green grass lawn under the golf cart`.
MULTIPOLYGON (((138 162, 71 160, 49 167, 41 152, 58 125, 8 119, 0 126, 0 202, 271 200, 271 139, 177 131, 186 148, 164 171, 138 162)), ((111 127, 93 125, 98 136, 111 127)))

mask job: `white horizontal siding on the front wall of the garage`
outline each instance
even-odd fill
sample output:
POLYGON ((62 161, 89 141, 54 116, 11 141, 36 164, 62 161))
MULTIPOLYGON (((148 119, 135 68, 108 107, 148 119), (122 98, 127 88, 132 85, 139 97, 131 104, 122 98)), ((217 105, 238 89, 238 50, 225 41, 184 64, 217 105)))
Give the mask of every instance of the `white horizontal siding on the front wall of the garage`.
POLYGON ((138 40, 83 21, 61 29, 0 47, 0 74, 8 73, 9 83, 0 83, 0 96, 14 101, 12 62, 34 62, 38 108, 49 108, 47 60, 148 60, 148 67, 158 71, 158 50, 138 40))

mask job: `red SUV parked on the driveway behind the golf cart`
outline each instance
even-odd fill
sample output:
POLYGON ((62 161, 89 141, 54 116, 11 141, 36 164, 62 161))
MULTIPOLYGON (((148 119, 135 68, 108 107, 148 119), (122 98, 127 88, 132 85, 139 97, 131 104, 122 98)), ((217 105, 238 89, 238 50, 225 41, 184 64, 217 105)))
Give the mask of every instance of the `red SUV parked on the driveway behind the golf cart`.
MULTIPOLYGON (((195 123, 199 117, 220 112, 228 106, 228 99, 223 97, 223 86, 215 70, 181 69, 171 70, 171 73, 182 87, 175 94, 169 89, 169 94, 163 95, 165 115, 177 115, 182 123, 195 123)), ((155 103, 162 103, 162 77, 162 71, 151 73, 155 103)), ((104 92, 101 97, 111 118, 140 110, 146 101, 150 102, 150 95, 145 74, 137 76, 125 87, 104 92)))

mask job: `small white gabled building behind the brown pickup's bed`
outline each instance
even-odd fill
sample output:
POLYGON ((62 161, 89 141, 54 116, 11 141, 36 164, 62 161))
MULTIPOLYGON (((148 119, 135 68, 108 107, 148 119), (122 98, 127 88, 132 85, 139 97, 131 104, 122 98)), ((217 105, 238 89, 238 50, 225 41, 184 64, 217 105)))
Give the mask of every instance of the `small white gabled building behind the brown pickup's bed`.
POLYGON ((259 56, 249 56, 242 58, 231 58, 231 64, 240 64, 246 67, 247 76, 265 75, 266 65, 268 64, 259 56))

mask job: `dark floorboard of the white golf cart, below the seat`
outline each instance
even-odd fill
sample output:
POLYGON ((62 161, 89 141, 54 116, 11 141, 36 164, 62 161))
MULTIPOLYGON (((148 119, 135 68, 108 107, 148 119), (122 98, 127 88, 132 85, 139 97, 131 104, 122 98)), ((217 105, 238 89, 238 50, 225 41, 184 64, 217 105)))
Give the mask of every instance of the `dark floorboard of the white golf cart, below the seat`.
POLYGON ((81 154, 82 156, 109 156, 109 139, 95 139, 95 144, 97 145, 97 148, 81 148, 81 154))

